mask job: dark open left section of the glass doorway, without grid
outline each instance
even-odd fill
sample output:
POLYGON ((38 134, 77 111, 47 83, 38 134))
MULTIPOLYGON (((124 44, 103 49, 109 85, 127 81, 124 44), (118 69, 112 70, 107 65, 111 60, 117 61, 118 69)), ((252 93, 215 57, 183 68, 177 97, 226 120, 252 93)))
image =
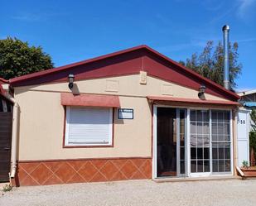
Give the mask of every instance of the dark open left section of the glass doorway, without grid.
POLYGON ((186 175, 186 109, 157 108, 157 177, 186 175))

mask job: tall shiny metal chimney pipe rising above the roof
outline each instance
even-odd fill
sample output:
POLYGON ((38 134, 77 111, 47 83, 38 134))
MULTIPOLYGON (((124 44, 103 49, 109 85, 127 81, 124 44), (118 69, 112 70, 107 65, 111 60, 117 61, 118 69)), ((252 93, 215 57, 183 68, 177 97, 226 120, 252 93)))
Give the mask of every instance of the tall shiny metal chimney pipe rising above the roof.
POLYGON ((229 25, 222 27, 224 46, 224 87, 230 89, 229 82, 229 25))

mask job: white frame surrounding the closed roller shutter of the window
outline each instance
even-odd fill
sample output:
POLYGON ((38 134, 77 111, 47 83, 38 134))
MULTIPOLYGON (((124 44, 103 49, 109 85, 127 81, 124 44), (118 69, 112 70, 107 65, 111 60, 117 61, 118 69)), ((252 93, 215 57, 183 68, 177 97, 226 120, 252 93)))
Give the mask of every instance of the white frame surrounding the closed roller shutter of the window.
MULTIPOLYGON (((71 108, 84 108, 84 107, 73 107, 73 106, 66 106, 65 108, 65 146, 113 146, 113 108, 106 108, 109 109, 109 141, 99 141, 99 143, 90 143, 90 142, 77 142, 77 143, 70 143, 69 142, 69 129, 70 129, 70 109, 71 108)), ((89 107, 86 107, 89 108, 89 107)), ((97 109, 97 108, 94 108, 97 109)))

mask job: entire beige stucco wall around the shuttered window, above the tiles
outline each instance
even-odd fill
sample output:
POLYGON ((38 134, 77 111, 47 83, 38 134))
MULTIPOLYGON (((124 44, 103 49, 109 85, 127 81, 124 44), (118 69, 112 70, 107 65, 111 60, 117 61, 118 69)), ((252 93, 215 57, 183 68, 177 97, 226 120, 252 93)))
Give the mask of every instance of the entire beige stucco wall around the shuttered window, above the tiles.
MULTIPOLYGON (((198 98, 198 91, 161 79, 147 77, 139 84, 140 75, 76 81, 80 93, 115 94, 122 108, 133 108, 133 120, 118 120, 115 113, 114 147, 62 148, 64 108, 60 93, 70 92, 67 83, 15 88, 20 105, 19 160, 55 160, 103 157, 151 156, 152 113, 148 95, 171 95, 198 98)), ((207 99, 221 98, 206 94, 207 99)))

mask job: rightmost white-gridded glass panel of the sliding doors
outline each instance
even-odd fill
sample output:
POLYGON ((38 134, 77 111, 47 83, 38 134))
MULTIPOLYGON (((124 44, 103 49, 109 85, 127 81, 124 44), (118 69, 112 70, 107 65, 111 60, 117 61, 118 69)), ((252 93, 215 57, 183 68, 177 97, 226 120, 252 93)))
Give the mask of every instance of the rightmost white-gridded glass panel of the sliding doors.
POLYGON ((230 112, 211 111, 212 172, 231 172, 230 112))

